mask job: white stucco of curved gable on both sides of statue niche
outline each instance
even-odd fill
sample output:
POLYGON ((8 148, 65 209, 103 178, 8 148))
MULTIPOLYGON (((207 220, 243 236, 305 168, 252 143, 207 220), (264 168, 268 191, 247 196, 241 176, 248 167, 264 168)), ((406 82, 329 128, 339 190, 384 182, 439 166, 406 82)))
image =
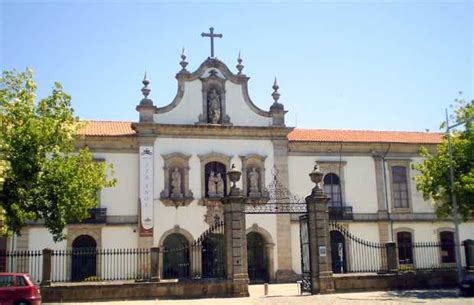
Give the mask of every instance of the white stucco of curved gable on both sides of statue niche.
MULTIPOLYGON (((154 121, 160 124, 191 124, 199 121, 203 112, 202 82, 199 79, 185 82, 181 102, 166 113, 154 115, 154 121)), ((269 126, 272 118, 255 113, 245 103, 242 85, 227 80, 225 84, 226 114, 235 126, 269 126)))

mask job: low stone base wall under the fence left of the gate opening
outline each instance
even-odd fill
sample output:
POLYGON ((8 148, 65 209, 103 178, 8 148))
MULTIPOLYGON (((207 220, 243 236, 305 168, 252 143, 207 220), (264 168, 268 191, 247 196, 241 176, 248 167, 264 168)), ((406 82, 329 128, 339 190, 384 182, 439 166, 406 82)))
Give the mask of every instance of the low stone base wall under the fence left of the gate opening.
POLYGON ((41 287, 43 302, 242 297, 242 291, 248 291, 247 283, 236 283, 227 280, 143 283, 82 282, 52 284, 51 286, 41 287))

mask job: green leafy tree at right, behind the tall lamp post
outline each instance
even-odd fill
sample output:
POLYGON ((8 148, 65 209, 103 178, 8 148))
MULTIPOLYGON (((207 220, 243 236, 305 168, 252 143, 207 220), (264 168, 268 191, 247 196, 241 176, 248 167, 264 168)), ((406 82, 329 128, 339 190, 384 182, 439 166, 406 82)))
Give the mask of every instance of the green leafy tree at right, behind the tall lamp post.
MULTIPOLYGON (((474 116, 474 101, 456 100, 454 115, 451 119, 460 123, 474 116)), ((441 128, 446 128, 445 123, 441 128)), ((474 123, 467 122, 452 131, 451 143, 453 152, 454 192, 459 215, 463 221, 474 217, 474 123)), ((452 215, 451 187, 449 180, 448 138, 445 135, 437 146, 435 155, 421 149, 425 158, 413 168, 421 175, 414 177, 416 188, 423 193, 425 200, 433 199, 438 217, 452 215)))

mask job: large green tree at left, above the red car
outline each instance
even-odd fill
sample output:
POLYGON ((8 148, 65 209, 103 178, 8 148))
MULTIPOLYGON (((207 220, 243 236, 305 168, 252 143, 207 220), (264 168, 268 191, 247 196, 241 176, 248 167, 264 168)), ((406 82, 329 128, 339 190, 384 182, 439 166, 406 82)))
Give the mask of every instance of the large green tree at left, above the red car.
POLYGON ((0 78, 0 207, 3 228, 20 232, 29 220, 43 220, 55 241, 70 221, 88 217, 98 193, 115 179, 111 166, 76 149, 81 122, 71 97, 55 83, 36 102, 33 72, 5 71, 0 78))

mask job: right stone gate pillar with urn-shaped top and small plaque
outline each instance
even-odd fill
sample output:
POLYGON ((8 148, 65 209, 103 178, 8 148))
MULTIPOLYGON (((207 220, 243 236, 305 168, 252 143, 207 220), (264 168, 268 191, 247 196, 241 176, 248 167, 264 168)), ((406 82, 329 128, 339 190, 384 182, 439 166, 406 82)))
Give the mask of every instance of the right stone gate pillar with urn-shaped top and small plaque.
POLYGON ((311 195, 306 197, 311 256, 311 293, 332 293, 334 292, 334 278, 329 239, 329 212, 327 207, 329 198, 323 193, 319 185, 323 173, 319 170, 317 164, 309 176, 311 181, 316 184, 311 195))

